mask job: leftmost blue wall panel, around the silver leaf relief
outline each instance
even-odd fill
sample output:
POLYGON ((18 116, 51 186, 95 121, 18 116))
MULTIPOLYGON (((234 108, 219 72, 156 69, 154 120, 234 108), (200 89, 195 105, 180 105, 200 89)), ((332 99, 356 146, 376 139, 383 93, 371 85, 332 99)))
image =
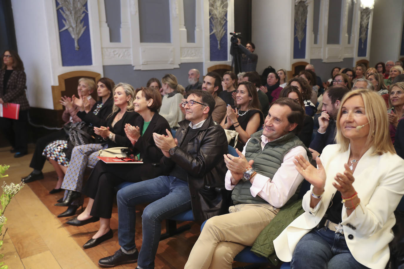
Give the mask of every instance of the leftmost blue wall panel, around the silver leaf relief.
MULTIPOLYGON (((56 6, 59 6, 59 3, 57 1, 56 6)), ((84 5, 84 8, 88 11, 87 3, 84 5)), ((63 10, 63 8, 61 9, 63 10)), ((59 31, 65 27, 62 20, 64 20, 64 17, 60 13, 60 11, 57 10, 59 31)), ((63 66, 93 64, 91 56, 90 27, 88 26, 88 13, 85 13, 84 18, 81 21, 84 22, 84 26, 86 26, 86 29, 84 30, 84 33, 81 35, 81 37, 78 39, 79 50, 75 49, 74 39, 67 29, 59 32, 60 51, 62 54, 63 66)))

